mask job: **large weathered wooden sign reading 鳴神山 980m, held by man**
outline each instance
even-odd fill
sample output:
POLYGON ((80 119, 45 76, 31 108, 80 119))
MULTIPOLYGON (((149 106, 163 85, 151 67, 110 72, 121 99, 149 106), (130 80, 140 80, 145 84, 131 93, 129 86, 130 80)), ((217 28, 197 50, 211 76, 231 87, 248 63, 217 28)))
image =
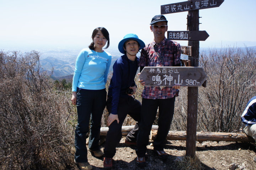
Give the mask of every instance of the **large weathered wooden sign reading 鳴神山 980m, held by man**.
POLYGON ((202 67, 144 67, 139 75, 145 86, 201 86, 207 76, 202 67))

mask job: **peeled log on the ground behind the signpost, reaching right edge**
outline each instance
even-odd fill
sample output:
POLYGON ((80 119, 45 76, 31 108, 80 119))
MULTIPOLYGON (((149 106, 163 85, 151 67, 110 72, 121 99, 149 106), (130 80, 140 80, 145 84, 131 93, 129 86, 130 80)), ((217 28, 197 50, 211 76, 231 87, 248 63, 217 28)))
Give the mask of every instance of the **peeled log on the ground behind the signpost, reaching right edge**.
MULTIPOLYGON (((150 139, 154 140, 156 137, 157 131, 151 130, 150 139)), ((186 131, 169 131, 167 140, 181 140, 186 141, 187 139, 187 132, 186 131)), ((243 132, 239 133, 224 133, 224 132, 197 132, 196 133, 196 140, 201 143, 203 141, 229 141, 229 142, 255 142, 255 140, 247 136, 243 132)))

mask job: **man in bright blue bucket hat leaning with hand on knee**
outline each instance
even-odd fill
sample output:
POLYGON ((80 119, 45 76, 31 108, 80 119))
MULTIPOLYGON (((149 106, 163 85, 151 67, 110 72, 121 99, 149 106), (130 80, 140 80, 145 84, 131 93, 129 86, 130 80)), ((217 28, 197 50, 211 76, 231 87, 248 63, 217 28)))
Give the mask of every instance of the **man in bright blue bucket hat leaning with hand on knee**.
POLYGON ((137 123, 126 137, 127 146, 137 145, 137 134, 140 122, 140 102, 135 99, 136 84, 134 78, 138 70, 138 51, 145 43, 136 34, 127 34, 119 42, 118 49, 124 54, 113 65, 113 76, 110 80, 107 95, 108 132, 104 148, 103 167, 112 168, 116 147, 122 138, 122 124, 127 115, 137 123))

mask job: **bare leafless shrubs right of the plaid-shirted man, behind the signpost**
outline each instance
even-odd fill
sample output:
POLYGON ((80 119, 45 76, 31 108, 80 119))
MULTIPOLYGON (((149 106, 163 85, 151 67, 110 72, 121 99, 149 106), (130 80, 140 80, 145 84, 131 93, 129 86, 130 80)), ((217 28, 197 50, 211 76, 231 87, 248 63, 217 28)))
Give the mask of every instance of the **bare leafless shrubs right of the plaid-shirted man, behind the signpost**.
MULTIPOLYGON (((206 72, 207 87, 199 87, 197 131, 231 132, 244 126, 241 114, 256 95, 256 50, 209 49, 199 64, 206 72)), ((186 131, 187 88, 176 98, 172 130, 186 131)))

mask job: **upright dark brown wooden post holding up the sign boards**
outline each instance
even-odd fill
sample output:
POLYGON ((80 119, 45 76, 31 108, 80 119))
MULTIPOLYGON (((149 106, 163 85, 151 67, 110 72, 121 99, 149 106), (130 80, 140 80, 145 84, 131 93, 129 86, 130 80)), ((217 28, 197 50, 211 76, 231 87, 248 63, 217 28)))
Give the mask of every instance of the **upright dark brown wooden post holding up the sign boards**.
MULTIPOLYGON (((190 1, 190 0, 189 0, 190 1)), ((199 31, 199 10, 188 11, 187 18, 188 31, 199 31)), ((192 61, 192 66, 199 65, 199 41, 188 41, 188 46, 192 46, 192 56, 188 60, 192 61)), ((198 87, 188 87, 187 95, 187 140, 186 156, 194 157, 196 154, 196 130, 197 130, 197 106, 198 87)))

